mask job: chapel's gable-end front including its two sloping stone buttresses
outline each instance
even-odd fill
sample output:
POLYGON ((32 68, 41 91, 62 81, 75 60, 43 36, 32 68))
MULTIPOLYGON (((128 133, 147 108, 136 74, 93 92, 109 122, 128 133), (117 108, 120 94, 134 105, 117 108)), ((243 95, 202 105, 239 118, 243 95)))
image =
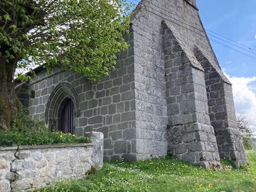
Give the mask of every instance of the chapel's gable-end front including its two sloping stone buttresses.
POLYGON ((132 29, 137 157, 162 156, 167 149, 207 168, 218 168, 220 157, 245 164, 232 87, 196 1, 142 0, 132 14, 132 29))

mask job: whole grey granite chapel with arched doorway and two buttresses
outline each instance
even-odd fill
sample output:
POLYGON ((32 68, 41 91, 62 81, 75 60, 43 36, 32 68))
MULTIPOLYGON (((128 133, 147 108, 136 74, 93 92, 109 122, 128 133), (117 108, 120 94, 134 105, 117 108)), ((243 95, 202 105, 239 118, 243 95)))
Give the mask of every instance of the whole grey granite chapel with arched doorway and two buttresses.
POLYGON ((35 69, 16 92, 51 130, 104 133, 105 160, 165 156, 205 168, 220 158, 247 163, 232 84, 201 23, 196 0, 142 0, 131 16, 130 48, 99 82, 55 67, 35 69))

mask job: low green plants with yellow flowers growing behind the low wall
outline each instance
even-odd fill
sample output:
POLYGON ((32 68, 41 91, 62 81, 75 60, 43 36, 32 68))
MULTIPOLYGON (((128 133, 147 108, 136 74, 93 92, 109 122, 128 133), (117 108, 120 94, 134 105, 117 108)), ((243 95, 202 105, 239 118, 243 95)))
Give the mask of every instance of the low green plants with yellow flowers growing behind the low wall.
POLYGON ((35 121, 25 114, 18 102, 18 112, 8 131, 0 130, 0 146, 50 145, 63 143, 87 143, 87 137, 51 132, 42 121, 35 121))

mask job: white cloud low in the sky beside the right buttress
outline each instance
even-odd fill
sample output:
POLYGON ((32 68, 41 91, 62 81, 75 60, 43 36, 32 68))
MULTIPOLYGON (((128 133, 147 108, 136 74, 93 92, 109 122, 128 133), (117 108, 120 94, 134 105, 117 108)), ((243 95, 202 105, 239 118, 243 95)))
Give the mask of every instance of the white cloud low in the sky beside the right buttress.
MULTIPOLYGON (((227 74, 225 74, 227 75, 227 74)), ((233 95, 237 114, 243 114, 256 123, 256 93, 250 83, 256 82, 254 77, 231 77, 227 75, 233 84, 233 95)), ((255 134, 256 134, 256 130, 255 134)))

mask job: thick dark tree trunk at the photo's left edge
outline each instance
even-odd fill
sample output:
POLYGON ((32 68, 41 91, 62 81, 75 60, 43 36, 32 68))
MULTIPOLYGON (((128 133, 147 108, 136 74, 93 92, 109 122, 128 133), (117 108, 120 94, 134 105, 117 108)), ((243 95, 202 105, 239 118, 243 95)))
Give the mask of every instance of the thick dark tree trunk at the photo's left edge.
POLYGON ((16 62, 0 61, 0 129, 11 129, 12 120, 17 112, 13 76, 16 62))

